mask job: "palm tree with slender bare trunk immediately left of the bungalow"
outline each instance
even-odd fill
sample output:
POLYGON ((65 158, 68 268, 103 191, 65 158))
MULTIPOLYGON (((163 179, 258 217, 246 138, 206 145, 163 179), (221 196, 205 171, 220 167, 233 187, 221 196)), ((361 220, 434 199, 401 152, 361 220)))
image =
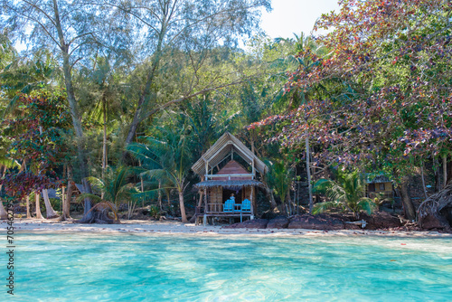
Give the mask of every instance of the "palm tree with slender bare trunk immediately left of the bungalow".
POLYGON ((162 129, 162 139, 145 137, 146 144, 129 144, 127 151, 146 169, 146 172, 141 174, 142 177, 149 180, 162 180, 162 184, 167 184, 164 189, 169 186, 177 189, 182 222, 188 222, 184 206, 184 190, 193 153, 187 137, 181 134, 184 133, 184 129, 180 133, 174 130, 162 129))

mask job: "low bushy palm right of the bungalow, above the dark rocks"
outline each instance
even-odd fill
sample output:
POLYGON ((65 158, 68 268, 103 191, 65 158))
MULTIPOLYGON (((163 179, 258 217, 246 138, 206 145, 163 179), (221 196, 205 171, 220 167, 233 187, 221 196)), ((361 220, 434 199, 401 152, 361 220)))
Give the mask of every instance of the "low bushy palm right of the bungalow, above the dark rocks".
POLYGON ((329 201, 316 203, 313 213, 325 212, 331 208, 341 208, 343 211, 353 212, 355 216, 362 210, 372 213, 376 205, 372 199, 365 197, 366 182, 359 171, 339 171, 336 178, 336 181, 320 179, 315 183, 315 193, 325 193, 329 201))

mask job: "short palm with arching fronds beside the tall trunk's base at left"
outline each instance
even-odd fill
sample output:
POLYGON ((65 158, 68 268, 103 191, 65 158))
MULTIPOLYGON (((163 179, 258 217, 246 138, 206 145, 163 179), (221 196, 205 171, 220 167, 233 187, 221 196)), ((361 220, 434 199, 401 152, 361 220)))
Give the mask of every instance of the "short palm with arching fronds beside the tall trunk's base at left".
POLYGON ((136 171, 131 167, 118 167, 117 169, 108 168, 103 179, 97 177, 89 177, 88 181, 95 189, 102 193, 102 197, 92 193, 82 193, 77 198, 78 202, 89 198, 96 203, 91 211, 99 210, 101 215, 99 218, 108 221, 105 210, 110 209, 113 212, 115 219, 118 222, 118 209, 121 202, 135 198, 135 194, 139 191, 135 184, 129 183, 129 179, 136 174, 136 171))

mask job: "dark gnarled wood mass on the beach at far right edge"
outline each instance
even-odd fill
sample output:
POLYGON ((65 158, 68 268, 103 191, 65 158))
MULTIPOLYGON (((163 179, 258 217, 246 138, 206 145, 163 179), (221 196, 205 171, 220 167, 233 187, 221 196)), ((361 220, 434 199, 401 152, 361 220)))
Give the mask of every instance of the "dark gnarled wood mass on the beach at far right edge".
POLYGON ((452 231, 452 183, 419 205, 419 226, 452 231))

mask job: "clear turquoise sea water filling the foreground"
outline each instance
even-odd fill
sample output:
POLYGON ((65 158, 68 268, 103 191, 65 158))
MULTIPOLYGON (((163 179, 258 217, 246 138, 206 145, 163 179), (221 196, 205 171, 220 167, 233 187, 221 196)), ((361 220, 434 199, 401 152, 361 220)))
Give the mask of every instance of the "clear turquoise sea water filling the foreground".
POLYGON ((1 301, 452 300, 451 239, 16 235, 1 301))

